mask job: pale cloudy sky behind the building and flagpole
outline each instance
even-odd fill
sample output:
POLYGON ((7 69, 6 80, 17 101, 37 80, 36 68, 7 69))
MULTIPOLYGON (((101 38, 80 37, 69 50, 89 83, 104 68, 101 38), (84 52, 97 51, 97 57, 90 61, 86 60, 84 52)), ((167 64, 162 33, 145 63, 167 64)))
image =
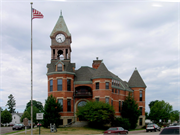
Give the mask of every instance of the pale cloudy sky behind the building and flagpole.
POLYGON ((47 99, 50 34, 62 15, 72 36, 76 70, 102 59, 123 81, 137 68, 148 104, 164 100, 180 110, 180 3, 178 0, 1 0, 0 106, 8 96, 23 112, 31 99, 31 4, 43 19, 33 20, 33 99, 47 99))

